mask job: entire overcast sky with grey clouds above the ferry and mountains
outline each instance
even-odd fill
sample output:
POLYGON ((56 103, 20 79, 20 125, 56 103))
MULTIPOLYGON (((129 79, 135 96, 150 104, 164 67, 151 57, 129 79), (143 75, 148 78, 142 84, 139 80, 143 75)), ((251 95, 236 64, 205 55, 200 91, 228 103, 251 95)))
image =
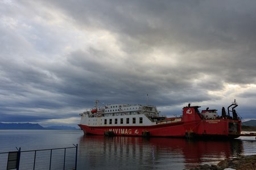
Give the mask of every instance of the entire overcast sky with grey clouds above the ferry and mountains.
POLYGON ((76 126, 96 99, 256 118, 256 1, 2 0, 0 82, 0 122, 76 126))

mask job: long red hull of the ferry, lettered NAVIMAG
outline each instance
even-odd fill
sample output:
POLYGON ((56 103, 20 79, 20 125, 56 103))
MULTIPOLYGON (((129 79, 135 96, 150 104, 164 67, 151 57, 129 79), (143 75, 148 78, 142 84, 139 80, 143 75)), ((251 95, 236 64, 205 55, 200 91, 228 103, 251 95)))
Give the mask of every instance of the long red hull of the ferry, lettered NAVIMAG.
POLYGON ((186 137, 186 138, 237 138, 241 132, 241 121, 230 119, 180 121, 151 126, 88 126, 79 125, 88 135, 186 137))

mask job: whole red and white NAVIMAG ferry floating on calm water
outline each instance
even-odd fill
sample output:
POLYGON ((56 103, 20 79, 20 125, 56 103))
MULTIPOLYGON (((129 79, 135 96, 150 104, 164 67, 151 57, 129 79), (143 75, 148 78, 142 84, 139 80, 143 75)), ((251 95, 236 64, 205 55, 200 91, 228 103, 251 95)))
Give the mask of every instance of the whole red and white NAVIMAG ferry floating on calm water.
POLYGON ((241 118, 236 100, 228 111, 222 107, 199 111, 199 106, 188 104, 179 117, 160 116, 155 106, 141 104, 107 104, 80 113, 80 128, 86 135, 128 135, 142 137, 213 137, 238 138, 241 118))

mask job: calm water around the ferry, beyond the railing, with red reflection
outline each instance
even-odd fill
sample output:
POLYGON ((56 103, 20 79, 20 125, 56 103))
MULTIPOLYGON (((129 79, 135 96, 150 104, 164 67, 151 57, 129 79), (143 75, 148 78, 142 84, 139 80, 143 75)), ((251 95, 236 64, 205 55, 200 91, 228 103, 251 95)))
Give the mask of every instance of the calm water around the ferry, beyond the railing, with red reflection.
POLYGON ((81 130, 0 130, 0 152, 79 145, 78 169, 189 169, 256 154, 255 137, 233 141, 85 136, 81 130))

